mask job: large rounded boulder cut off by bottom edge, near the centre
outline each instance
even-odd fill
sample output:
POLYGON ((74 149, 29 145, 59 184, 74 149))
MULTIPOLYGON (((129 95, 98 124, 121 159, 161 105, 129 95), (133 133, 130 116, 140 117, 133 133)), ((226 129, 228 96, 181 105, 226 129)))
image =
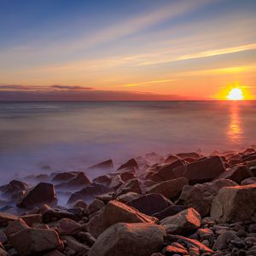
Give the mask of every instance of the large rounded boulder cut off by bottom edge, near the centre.
POLYGON ((156 224, 114 224, 99 236, 89 256, 148 256, 160 250, 165 230, 156 224))

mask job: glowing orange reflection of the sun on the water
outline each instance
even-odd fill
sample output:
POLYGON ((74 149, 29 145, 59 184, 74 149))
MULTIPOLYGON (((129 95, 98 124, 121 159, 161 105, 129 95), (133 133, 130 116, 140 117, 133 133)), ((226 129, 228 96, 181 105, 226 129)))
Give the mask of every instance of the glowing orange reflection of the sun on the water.
POLYGON ((241 125, 241 115, 239 105, 234 102, 230 105, 230 124, 228 127, 228 137, 231 143, 241 143, 243 128, 241 125))

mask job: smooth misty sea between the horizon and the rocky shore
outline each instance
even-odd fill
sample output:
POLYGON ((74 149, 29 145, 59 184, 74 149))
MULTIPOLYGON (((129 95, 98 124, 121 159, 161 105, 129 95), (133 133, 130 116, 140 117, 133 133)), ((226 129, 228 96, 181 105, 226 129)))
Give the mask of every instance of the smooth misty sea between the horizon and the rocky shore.
POLYGON ((1 183, 150 152, 256 144, 256 102, 1 102, 1 183))

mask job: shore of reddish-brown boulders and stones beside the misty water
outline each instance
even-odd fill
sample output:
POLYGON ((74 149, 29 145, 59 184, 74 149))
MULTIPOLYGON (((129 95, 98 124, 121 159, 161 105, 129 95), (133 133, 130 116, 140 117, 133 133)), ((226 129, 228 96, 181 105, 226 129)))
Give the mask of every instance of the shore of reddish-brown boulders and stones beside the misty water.
POLYGON ((44 166, 0 191, 0 256, 256 255, 255 148, 44 166))

